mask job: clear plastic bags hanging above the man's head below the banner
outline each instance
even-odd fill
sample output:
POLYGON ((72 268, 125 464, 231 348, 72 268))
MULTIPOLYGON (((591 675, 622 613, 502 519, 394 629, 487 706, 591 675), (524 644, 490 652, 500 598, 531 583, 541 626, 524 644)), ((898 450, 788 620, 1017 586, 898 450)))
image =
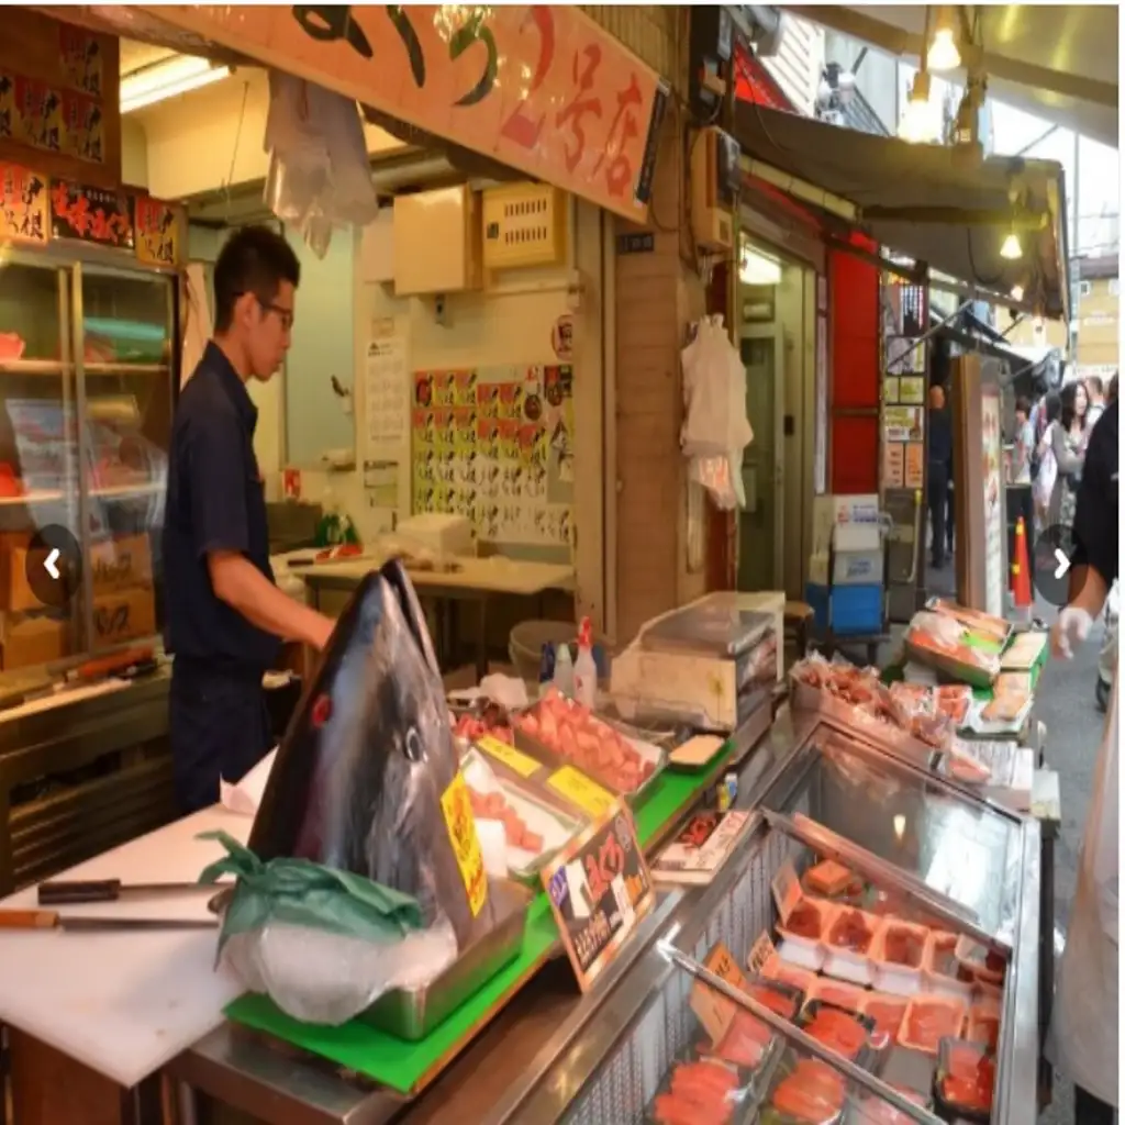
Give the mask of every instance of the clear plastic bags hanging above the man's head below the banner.
POLYGON ((378 212, 359 108, 350 98, 270 71, 266 202, 323 258, 333 226, 370 223, 378 212))

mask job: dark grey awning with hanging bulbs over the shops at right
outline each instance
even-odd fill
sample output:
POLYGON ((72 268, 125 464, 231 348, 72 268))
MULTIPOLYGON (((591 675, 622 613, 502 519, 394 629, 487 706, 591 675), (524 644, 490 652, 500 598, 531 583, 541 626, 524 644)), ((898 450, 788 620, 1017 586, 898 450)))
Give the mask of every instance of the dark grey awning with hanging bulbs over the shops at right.
POLYGON ((736 107, 735 136, 745 170, 829 216, 829 232, 858 228, 982 297, 1069 316, 1065 191, 1054 161, 970 162, 953 148, 748 104, 736 107), (1015 261, 1000 254, 1012 230, 1023 248, 1015 261))

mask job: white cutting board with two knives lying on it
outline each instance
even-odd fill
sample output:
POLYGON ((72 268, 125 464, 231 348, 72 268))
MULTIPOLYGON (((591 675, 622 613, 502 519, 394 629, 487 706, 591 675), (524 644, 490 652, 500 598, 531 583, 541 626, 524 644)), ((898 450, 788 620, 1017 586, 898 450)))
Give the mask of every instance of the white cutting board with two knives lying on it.
MULTIPOLYGON (((125 883, 194 882, 223 854, 197 840, 222 828, 245 843, 250 817, 215 806, 56 878, 120 879, 125 883)), ((207 892, 160 899, 64 907, 61 912, 204 917, 207 892)), ((0 901, 36 906, 35 888, 0 901)), ((215 970, 218 930, 68 934, 0 930, 0 1024, 9 1024, 63 1054, 135 1086, 223 1022, 244 990, 215 970)))

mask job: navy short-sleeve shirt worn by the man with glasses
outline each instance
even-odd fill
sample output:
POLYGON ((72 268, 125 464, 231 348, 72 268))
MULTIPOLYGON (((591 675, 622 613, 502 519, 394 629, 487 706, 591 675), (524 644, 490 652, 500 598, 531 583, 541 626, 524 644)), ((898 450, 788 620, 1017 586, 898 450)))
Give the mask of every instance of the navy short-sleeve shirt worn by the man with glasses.
POLYGON ((216 669, 266 669, 279 641, 219 601, 210 551, 237 551, 270 582, 266 494, 254 457, 258 408, 223 351, 207 344, 176 406, 164 511, 170 651, 216 669))

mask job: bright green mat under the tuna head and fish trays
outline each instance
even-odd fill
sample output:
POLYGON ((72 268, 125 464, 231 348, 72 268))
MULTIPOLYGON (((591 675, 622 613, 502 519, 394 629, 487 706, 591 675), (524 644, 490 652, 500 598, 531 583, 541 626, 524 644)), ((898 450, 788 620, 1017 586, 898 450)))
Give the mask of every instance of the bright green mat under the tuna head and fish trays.
MULTIPOLYGON (((657 777, 634 813, 642 845, 647 847, 670 820, 687 811, 724 767, 731 749, 728 742, 723 754, 709 764, 712 768, 703 774, 665 771, 657 777)), ((330 1059, 400 1094, 411 1094, 487 1018, 494 1006, 536 969, 557 939, 555 916, 547 896, 540 892, 528 910, 520 955, 418 1043, 396 1038, 356 1019, 341 1027, 303 1024, 287 1016, 268 997, 256 993, 240 997, 227 1007, 226 1016, 237 1024, 330 1059)))

